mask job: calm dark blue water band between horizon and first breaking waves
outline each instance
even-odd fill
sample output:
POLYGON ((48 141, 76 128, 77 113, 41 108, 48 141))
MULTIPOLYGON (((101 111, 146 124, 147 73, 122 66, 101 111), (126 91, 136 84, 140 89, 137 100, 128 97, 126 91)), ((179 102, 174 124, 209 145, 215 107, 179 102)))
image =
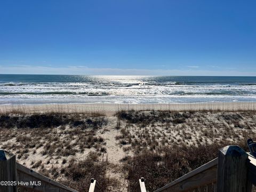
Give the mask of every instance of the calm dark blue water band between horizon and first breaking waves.
MULTIPOLYGON (((122 76, 86 76, 86 75, 1 75, 0 82, 97 82, 101 77, 113 77, 115 81, 122 76)), ((123 76, 140 79, 142 81, 153 81, 158 83, 180 82, 182 84, 256 84, 256 77, 230 77, 230 76, 123 76)))

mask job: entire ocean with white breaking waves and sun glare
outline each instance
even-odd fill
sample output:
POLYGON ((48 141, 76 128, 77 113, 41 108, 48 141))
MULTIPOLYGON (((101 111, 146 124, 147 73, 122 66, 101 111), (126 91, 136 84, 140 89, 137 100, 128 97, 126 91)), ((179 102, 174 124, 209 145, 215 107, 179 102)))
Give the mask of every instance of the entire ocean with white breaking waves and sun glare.
POLYGON ((0 105, 256 102, 256 77, 0 75, 0 105))

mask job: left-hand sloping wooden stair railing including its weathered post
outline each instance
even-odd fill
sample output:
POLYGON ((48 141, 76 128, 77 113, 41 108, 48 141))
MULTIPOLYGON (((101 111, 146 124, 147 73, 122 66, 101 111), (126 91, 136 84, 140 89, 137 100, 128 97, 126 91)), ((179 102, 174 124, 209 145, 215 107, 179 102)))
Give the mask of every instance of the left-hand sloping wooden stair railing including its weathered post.
POLYGON ((15 155, 0 149, 0 192, 58 191, 77 192, 16 162, 15 155))

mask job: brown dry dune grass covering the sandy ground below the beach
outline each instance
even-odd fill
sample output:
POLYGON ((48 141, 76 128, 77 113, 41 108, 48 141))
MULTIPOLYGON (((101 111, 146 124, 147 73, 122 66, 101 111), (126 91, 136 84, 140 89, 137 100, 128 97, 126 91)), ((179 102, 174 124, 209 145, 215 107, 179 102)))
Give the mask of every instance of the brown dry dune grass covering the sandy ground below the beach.
POLYGON ((102 191, 134 191, 140 177, 154 191, 211 161, 219 148, 247 149, 246 139, 256 139, 254 110, 121 110, 111 117, 25 112, 0 115, 0 147, 78 191, 87 190, 91 178, 102 191), (109 131, 115 143, 107 147, 109 131), (109 162, 109 149, 124 153, 119 163, 109 162))

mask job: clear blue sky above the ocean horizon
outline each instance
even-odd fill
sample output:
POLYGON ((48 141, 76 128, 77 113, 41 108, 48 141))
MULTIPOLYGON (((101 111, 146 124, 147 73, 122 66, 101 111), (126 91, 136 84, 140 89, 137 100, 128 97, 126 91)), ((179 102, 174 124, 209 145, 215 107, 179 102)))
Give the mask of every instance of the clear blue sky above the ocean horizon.
POLYGON ((256 1, 0 2, 0 74, 256 76, 256 1))

